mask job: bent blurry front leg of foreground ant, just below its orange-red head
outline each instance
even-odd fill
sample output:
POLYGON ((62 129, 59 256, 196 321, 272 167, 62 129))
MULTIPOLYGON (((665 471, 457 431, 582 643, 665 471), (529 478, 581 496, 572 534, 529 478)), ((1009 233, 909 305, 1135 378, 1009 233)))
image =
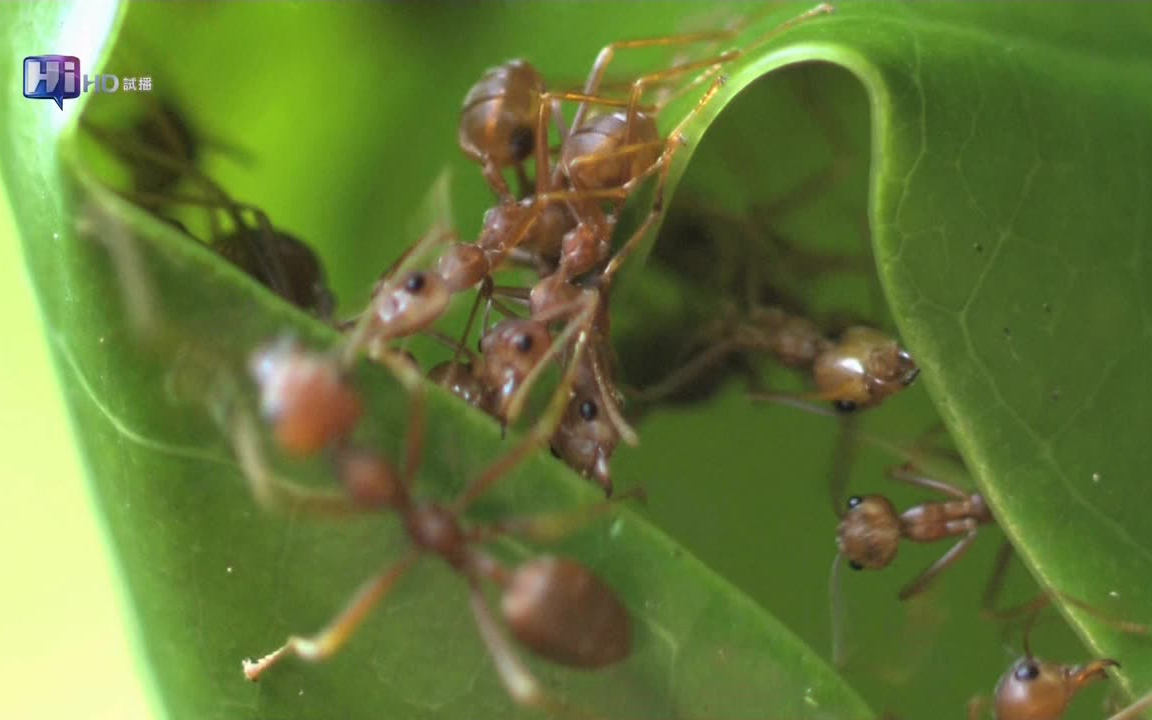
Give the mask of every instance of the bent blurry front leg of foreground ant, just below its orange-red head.
POLYGON ((257 424, 248 412, 238 410, 230 430, 233 447, 244 477, 248 478, 249 490, 265 509, 288 513, 301 510, 331 517, 344 517, 367 510, 353 502, 348 495, 316 491, 276 475, 260 449, 257 424))

